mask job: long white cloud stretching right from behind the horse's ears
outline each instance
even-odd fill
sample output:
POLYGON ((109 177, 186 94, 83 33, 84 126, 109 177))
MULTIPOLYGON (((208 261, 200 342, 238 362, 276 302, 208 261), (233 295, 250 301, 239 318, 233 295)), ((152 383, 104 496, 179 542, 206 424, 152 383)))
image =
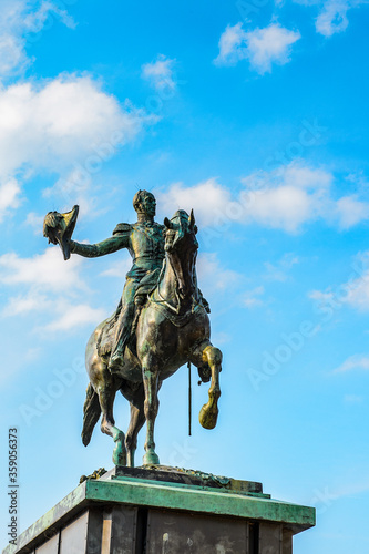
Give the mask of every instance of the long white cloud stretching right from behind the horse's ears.
POLYGON ((158 204, 166 214, 182 207, 194 208, 199 228, 214 229, 238 222, 256 223, 266 227, 296 232, 316 217, 319 198, 331 177, 321 168, 291 164, 271 172, 255 172, 242 179, 244 188, 233 198, 230 189, 209 178, 185 187, 173 184, 165 193, 158 192, 158 204))

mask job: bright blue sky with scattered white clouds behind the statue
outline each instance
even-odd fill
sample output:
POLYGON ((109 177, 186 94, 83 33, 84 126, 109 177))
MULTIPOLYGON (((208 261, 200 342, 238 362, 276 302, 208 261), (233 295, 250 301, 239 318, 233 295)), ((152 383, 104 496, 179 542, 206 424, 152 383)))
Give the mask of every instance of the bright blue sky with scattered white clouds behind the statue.
POLYGON ((20 530, 112 464, 99 429, 80 440, 83 356, 130 267, 125 252, 64 263, 43 217, 79 204, 75 239, 99 242, 146 188, 160 222, 194 208, 224 353, 213 432, 197 423, 206 387, 188 438, 186 370, 164 383, 161 462, 315 505, 298 554, 367 552, 366 2, 0 6, 1 449, 18 427, 20 530))

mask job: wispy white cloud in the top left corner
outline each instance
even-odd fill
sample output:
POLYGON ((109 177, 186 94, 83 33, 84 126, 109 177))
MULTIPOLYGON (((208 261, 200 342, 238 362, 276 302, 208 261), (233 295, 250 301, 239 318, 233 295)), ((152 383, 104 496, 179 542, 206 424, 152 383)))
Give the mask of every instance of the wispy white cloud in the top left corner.
POLYGON ((34 41, 48 22, 61 21, 70 29, 75 22, 58 2, 43 0, 2 0, 0 11, 0 79, 23 72, 32 59, 27 54, 27 42, 34 41))

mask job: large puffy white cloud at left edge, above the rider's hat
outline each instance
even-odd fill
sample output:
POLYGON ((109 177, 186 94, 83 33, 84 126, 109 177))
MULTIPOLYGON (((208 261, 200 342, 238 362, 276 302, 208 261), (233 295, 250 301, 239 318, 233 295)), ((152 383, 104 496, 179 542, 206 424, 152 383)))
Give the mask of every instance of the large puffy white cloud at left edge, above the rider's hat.
POLYGON ((25 178, 34 172, 59 172, 63 178, 49 194, 63 198, 66 207, 80 193, 84 204, 103 164, 154 121, 103 92, 89 75, 63 74, 0 89, 0 215, 3 187, 3 203, 17 206, 16 173, 25 178))

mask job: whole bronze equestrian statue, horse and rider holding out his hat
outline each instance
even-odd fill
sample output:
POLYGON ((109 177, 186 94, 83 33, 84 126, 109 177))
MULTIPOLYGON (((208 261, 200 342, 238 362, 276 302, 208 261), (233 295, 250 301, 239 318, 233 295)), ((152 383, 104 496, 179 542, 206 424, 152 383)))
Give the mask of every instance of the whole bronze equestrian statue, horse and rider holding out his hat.
POLYGON ((82 430, 82 441, 88 445, 102 413, 101 430, 116 443, 114 463, 131 466, 137 433, 145 421, 144 463, 158 464, 154 422, 162 381, 186 362, 197 367, 203 382, 212 378, 209 400, 201 410, 199 421, 204 428, 213 429, 222 369, 222 353, 209 341, 208 305, 197 287, 198 243, 193 213, 188 216, 178 211, 171 220, 164 219, 164 226, 158 225, 154 222, 155 198, 145 191, 135 195, 134 207, 137 223, 117 225, 111 238, 96 245, 71 240, 76 206, 64 215, 49 213, 44 222, 44 235, 61 245, 65 259, 69 250, 95 257, 124 247, 133 257, 116 312, 96 327, 88 342, 90 384, 82 430), (131 403, 126 437, 113 418, 117 390, 131 403))

